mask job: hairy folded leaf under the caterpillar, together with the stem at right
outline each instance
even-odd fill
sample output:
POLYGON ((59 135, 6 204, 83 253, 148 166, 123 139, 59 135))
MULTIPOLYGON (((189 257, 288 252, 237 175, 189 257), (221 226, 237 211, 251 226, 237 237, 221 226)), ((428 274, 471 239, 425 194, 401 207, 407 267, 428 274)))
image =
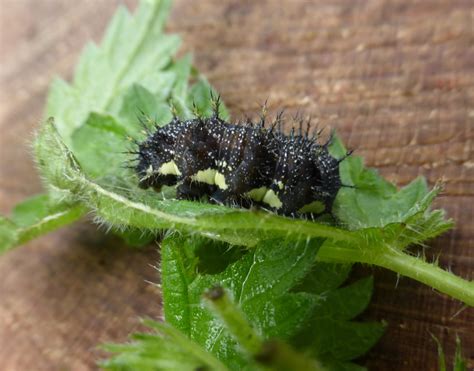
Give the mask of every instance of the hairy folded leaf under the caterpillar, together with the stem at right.
MULTIPOLYGON (((169 198, 167 191, 156 194, 140 190, 130 181, 133 178, 112 176, 91 180, 74 154, 62 142, 52 123, 44 125, 40 130, 36 140, 36 155, 40 169, 54 194, 71 202, 81 202, 93 210, 102 222, 114 228, 132 228, 154 233, 161 229, 175 229, 249 247, 276 237, 294 241, 327 238, 319 254, 324 261, 376 264, 430 284, 456 298, 463 298, 467 303, 474 303, 474 290, 469 282, 402 253, 410 244, 421 243, 451 227, 452 223, 444 219, 442 212, 429 209, 433 197, 440 191, 439 187, 435 187, 421 199, 412 196, 413 192, 407 192, 416 202, 403 213, 397 214, 399 221, 386 224, 383 228, 372 226, 351 231, 263 211, 179 201, 169 198)), ((374 195, 372 198, 377 197, 374 195)), ((393 195, 392 200, 397 197, 400 196, 393 195)), ((382 200, 380 198, 380 202, 377 201, 380 209, 384 207, 382 200)), ((391 201, 388 202, 390 204, 391 201)))

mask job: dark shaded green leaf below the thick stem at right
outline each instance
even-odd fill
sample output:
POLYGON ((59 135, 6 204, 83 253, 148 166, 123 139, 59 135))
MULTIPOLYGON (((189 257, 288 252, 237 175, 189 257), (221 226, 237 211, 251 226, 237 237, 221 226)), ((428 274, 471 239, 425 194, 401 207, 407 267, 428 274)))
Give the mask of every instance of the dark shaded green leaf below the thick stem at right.
POLYGON ((365 354, 384 332, 384 324, 353 321, 370 302, 373 279, 368 277, 339 287, 347 279, 350 267, 318 262, 295 288, 317 294, 321 300, 292 343, 298 349, 306 349, 328 369, 361 369, 349 361, 365 354))

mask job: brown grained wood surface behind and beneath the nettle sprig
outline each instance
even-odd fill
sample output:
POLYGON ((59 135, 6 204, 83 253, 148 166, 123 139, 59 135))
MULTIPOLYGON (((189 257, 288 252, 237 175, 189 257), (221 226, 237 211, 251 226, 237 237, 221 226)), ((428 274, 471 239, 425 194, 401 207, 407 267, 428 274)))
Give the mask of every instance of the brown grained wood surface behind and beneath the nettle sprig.
MULTIPOLYGON (((100 40, 118 1, 0 0, 0 212, 41 191, 28 142, 55 74, 100 40)), ((129 6, 134 7, 130 0, 129 6)), ((457 227, 430 243, 441 265, 474 268, 472 0, 176 1, 169 29, 232 113, 311 113, 399 185, 446 180, 437 201, 457 227)), ((96 345, 160 316, 155 248, 127 249, 87 221, 0 258, 0 369, 87 370, 96 345)), ((373 273, 365 318, 388 321, 361 360, 377 370, 436 369, 436 335, 474 366, 474 311, 394 273, 373 273)))

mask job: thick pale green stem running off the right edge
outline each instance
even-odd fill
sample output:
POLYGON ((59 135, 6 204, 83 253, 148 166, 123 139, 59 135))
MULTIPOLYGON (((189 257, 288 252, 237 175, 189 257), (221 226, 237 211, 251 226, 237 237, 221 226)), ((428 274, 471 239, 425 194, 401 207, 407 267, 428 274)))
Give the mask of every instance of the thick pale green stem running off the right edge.
POLYGON ((367 252, 356 248, 323 245, 319 250, 317 259, 328 262, 355 262, 378 265, 420 281, 469 306, 474 306, 473 281, 464 280, 434 264, 427 263, 420 258, 390 247, 373 250, 367 252), (377 250, 377 252, 373 250, 377 250))

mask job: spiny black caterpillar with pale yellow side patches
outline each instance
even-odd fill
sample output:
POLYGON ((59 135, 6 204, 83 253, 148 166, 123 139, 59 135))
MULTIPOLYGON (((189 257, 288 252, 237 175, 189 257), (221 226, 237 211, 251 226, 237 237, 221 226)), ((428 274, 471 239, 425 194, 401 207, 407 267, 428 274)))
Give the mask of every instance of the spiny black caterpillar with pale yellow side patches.
POLYGON ((341 188, 341 159, 328 152, 320 132, 309 135, 310 123, 299 119, 299 131, 289 136, 281 129, 283 114, 265 127, 258 123, 230 124, 219 117, 219 97, 212 98, 210 118, 196 115, 172 121, 148 132, 138 144, 134 166, 141 188, 178 185, 179 199, 209 196, 216 203, 251 207, 258 205, 278 214, 300 217, 332 214, 341 188))

